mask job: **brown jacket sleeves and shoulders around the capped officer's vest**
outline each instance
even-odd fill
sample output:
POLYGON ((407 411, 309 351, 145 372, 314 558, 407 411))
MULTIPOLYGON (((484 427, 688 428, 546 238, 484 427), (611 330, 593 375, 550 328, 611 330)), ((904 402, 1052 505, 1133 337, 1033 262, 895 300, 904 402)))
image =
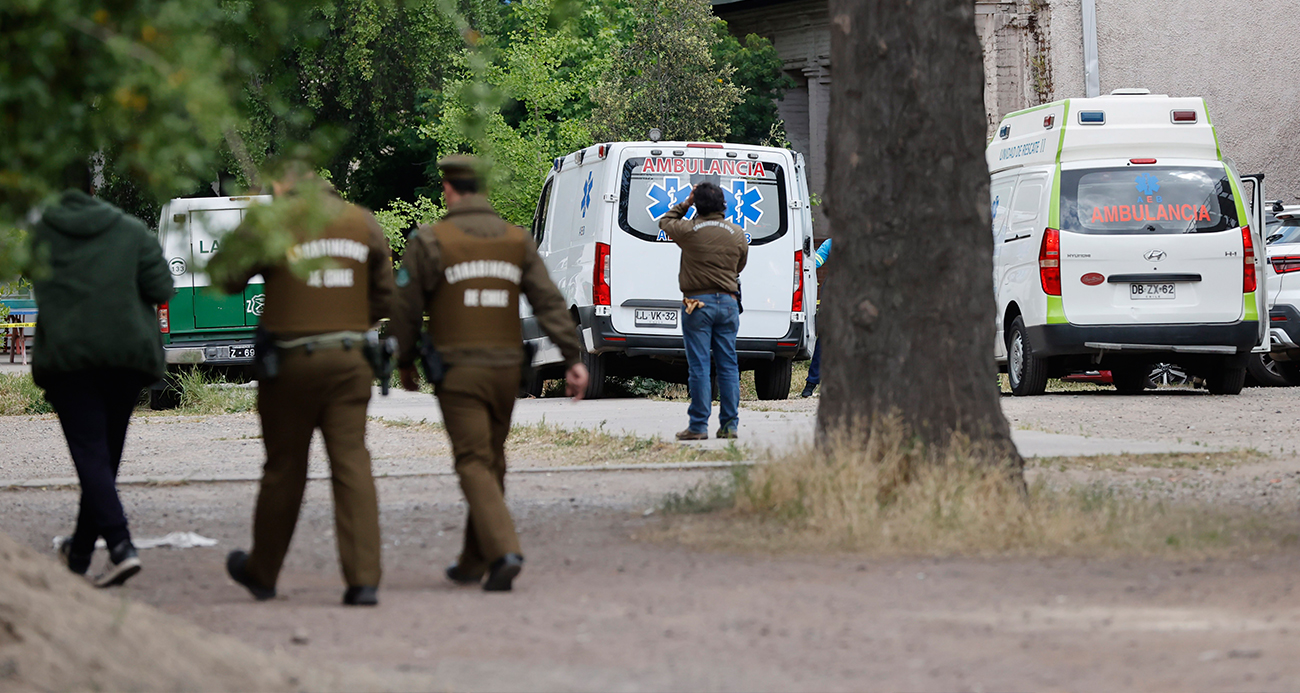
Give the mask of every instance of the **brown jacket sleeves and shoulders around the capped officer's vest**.
MULTIPOLYGON (((458 204, 447 209, 443 221, 455 224, 465 234, 488 237, 500 233, 502 221, 497 212, 488 203, 485 195, 465 195, 458 204)), ((441 251, 432 226, 420 226, 411 241, 407 242, 407 252, 402 257, 402 269, 398 270, 398 306, 396 315, 389 325, 389 334, 398 338, 400 345, 398 351, 398 364, 410 367, 416 359, 416 341, 420 328, 424 325, 424 313, 434 293, 445 282, 441 251)), ((537 324, 542 332, 551 338, 564 356, 564 364, 572 365, 580 359, 580 345, 577 341, 577 325, 568 312, 568 306, 550 274, 546 273, 546 264, 537 255, 537 247, 532 239, 525 243, 524 267, 519 282, 520 293, 528 298, 537 316, 537 324)), ((437 320, 438 316, 429 316, 437 320)), ((523 345, 516 348, 484 348, 465 352, 447 352, 443 359, 452 365, 486 365, 504 367, 516 365, 523 359, 523 345)))

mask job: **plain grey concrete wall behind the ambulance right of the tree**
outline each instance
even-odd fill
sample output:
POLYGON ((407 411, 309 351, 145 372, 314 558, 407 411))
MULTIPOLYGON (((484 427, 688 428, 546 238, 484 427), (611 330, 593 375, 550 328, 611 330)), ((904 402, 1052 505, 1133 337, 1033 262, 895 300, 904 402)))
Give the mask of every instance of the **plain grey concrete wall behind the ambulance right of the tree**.
MULTIPOLYGON (((1204 96, 1226 156, 1242 173, 1264 172, 1265 192, 1300 202, 1300 78, 1295 0, 1096 0, 1101 92, 1204 96)), ((1079 1, 1052 12, 1079 21, 1079 1)), ((1053 18, 1056 23, 1056 18, 1053 18)), ((1062 36, 1063 39, 1063 36, 1062 36)), ((1053 46, 1057 74, 1078 75, 1065 95, 1083 95, 1082 55, 1053 46), (1078 65, 1075 68, 1075 65, 1078 65)), ((1062 85, 1063 86, 1063 85, 1062 85)))

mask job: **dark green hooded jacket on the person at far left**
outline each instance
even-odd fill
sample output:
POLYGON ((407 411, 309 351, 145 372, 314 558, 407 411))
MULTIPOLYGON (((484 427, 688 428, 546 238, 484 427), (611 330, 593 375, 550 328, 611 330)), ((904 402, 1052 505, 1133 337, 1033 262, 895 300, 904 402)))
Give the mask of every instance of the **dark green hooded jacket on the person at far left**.
POLYGON ((31 374, 129 369, 162 377, 162 335, 153 307, 170 300, 172 273, 157 238, 117 207, 68 190, 31 233, 40 263, 31 374))

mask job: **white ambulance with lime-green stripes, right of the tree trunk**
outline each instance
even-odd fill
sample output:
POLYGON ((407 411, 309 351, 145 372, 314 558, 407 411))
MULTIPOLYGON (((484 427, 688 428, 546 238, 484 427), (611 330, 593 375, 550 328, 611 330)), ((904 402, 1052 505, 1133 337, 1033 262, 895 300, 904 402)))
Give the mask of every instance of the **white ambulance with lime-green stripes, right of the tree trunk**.
POLYGON ((1097 369, 1136 393, 1154 363, 1242 390, 1268 337, 1248 213, 1262 177, 1234 170, 1202 99, 1119 90, 1020 111, 987 159, 994 352, 1014 394, 1097 369))

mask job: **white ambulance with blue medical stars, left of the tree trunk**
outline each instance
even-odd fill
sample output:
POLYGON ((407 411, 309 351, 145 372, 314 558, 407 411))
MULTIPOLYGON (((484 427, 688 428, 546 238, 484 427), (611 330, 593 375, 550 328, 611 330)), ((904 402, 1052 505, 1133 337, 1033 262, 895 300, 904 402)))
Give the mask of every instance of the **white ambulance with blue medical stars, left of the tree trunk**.
MULTIPOLYGON (((741 371, 754 371, 760 399, 785 399, 790 363, 810 356, 816 281, 800 153, 711 142, 594 144, 554 161, 532 225, 578 324, 589 398, 601 397, 607 376, 686 381, 681 252, 659 231, 659 218, 702 181, 723 189, 727 218, 749 242, 736 339, 741 371)), ((562 377, 558 350, 526 307, 524 315, 525 339, 541 347, 541 377, 562 377)))

